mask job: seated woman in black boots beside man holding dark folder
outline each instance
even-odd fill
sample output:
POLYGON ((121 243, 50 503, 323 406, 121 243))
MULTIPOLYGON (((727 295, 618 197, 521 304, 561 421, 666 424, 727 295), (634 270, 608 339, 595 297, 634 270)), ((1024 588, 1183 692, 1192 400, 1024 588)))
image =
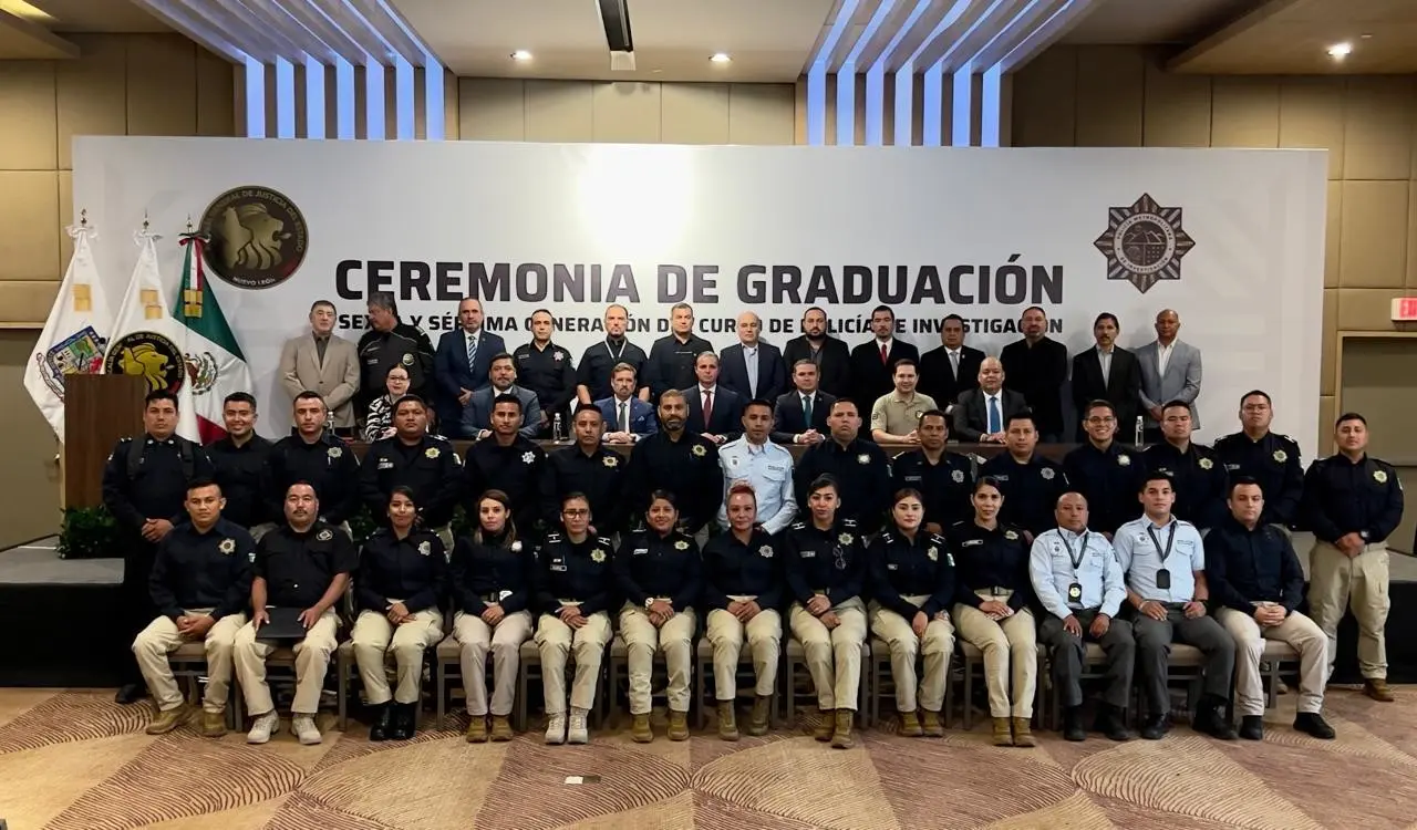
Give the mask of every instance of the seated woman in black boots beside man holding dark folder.
POLYGON ((388 527, 376 530, 364 542, 354 576, 359 618, 350 640, 364 698, 374 707, 370 741, 414 737, 422 700, 424 649, 436 646, 444 636, 438 606, 446 591, 448 555, 442 541, 418 525, 414 491, 400 484, 388 494, 388 527), (390 650, 398 676, 393 694, 384 673, 390 650))

